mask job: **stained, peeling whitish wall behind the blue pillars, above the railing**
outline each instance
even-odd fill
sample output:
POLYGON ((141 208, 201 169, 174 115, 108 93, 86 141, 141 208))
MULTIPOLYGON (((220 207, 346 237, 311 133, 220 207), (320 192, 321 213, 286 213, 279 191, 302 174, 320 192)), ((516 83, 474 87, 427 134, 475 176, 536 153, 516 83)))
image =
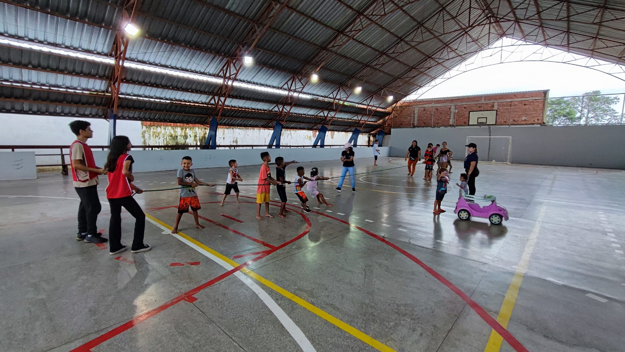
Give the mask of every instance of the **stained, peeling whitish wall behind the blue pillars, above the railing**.
MULTIPOLYGON (((153 124, 143 123, 141 137, 143 145, 173 145, 173 144, 204 144, 208 127, 185 124, 153 124)), ((351 133, 328 131, 326 144, 344 144, 351 133)), ((316 131, 302 129, 283 129, 281 144, 284 146, 312 144, 317 137, 316 131)), ((271 129, 219 127, 217 128, 217 145, 229 144, 267 144, 271 138, 271 129)), ((358 144, 367 144, 367 134, 358 138, 358 144)))

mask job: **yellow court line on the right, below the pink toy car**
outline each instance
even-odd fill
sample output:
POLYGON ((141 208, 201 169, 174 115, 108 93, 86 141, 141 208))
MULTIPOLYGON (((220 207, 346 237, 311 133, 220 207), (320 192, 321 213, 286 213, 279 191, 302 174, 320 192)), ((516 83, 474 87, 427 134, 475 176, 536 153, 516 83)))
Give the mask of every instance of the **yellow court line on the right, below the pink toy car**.
MULTIPOLYGON (((546 206, 542 206, 538 218, 536 219, 536 224, 534 225, 534 229, 527 240, 527 244, 525 245, 525 249, 523 250, 523 254, 521 256, 521 260, 519 264, 517 264, 516 273, 512 277, 512 282, 510 286, 508 286, 508 290, 506 292, 506 296, 504 297, 504 301, 501 304, 501 308, 499 309, 499 315, 497 315, 497 323, 501 324, 504 329, 507 329, 507 324, 510 322, 510 317, 512 316, 512 309, 514 309, 514 303, 516 302, 517 296, 519 296, 519 289, 521 288, 521 283, 523 281, 523 276, 527 273, 527 266, 529 266, 529 257, 531 257, 532 252, 534 251, 534 246, 536 246, 536 239, 538 238, 538 232, 541 229, 541 221, 542 216, 544 216, 546 206)), ((501 343, 503 338, 496 331, 491 330, 491 336, 488 338, 488 342, 486 343, 486 348, 484 348, 484 352, 499 352, 501 349, 501 343)))

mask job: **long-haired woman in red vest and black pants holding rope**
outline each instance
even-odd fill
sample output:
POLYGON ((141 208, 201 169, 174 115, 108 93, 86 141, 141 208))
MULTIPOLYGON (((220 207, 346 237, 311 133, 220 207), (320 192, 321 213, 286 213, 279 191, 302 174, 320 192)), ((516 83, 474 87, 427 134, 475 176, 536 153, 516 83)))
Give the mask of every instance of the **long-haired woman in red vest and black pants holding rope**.
POLYGON ((134 239, 131 248, 133 253, 152 249, 143 243, 146 229, 146 214, 133 198, 133 191, 143 193, 143 189, 134 186, 133 157, 128 154, 133 144, 126 136, 115 136, 109 147, 109 156, 104 169, 108 171, 109 185, 106 187, 106 198, 111 206, 111 222, 109 223, 109 254, 118 254, 128 249, 121 244, 121 208, 124 207, 134 216, 134 239))

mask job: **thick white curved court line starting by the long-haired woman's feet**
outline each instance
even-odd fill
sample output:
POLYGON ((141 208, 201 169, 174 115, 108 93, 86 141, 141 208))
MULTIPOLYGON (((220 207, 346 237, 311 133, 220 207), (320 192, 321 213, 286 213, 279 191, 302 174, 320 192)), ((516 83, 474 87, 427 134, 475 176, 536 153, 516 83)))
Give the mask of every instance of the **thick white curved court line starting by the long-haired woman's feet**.
MULTIPOLYGON (((146 217, 146 220, 148 220, 149 222, 153 223, 154 225, 158 226, 161 229, 164 229, 164 230, 168 229, 165 226, 157 223, 153 219, 146 217)), ((196 246, 196 244, 192 243, 191 241, 188 241, 186 238, 178 236, 178 234, 171 234, 171 235, 174 236, 175 238, 178 238, 180 241, 183 241, 183 243, 186 243, 189 247, 195 249, 199 253, 204 254, 204 256, 211 259, 215 263, 221 265, 224 269, 230 270, 234 268, 234 266, 226 263, 222 259, 217 258, 216 256, 204 250, 203 248, 196 246)), ((258 286, 254 281, 252 281, 252 279, 247 278, 247 276, 241 273, 241 271, 237 271, 236 273, 234 273, 234 275, 237 278, 239 278, 241 281, 243 281, 243 283, 246 284, 249 288, 251 288, 252 291, 254 291, 254 293, 257 294, 258 298, 261 299, 262 303, 264 303, 267 306, 267 308, 269 308, 269 310, 271 310, 271 312, 274 313, 274 315, 280 321, 282 326, 284 326, 284 328, 287 331, 289 331, 289 334, 291 334, 293 339, 295 339, 295 342, 299 344, 299 347, 302 349, 302 351, 316 352, 316 349, 312 347, 312 344, 310 343, 310 341, 308 341, 308 339, 306 338, 306 335, 302 333, 301 329, 299 329, 299 327, 291 320, 291 318, 289 318, 289 316, 286 313, 284 313, 282 308, 280 308, 280 306, 277 305, 276 301, 274 301, 271 298, 271 296, 269 296, 269 294, 267 294, 264 291, 264 289, 258 286)))

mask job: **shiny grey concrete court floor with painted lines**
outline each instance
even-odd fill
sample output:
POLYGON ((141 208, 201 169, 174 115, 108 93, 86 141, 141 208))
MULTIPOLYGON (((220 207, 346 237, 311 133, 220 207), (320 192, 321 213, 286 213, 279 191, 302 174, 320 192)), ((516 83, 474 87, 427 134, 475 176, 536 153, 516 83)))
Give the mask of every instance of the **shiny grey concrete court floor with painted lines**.
MULTIPOLYGON (((357 172, 374 170, 371 161, 356 159, 357 172)), ((402 158, 380 158, 376 169, 397 165, 405 165, 402 158)), ((289 178, 297 166, 334 176, 341 163, 294 164, 289 178)), ((241 167, 244 183, 256 183, 258 169, 241 167)), ((210 222, 202 219, 206 229, 196 229, 186 214, 180 226, 196 244, 164 231, 176 209, 163 207, 178 204, 177 190, 137 195, 164 224, 146 224, 152 251, 119 256, 74 239, 78 201, 67 176, 1 182, 0 351, 623 351, 625 172, 520 164, 480 169, 477 193, 496 194, 511 214, 501 226, 458 219, 456 190, 443 202, 447 213, 433 216, 435 183, 421 179, 419 165, 414 177, 405 168, 358 175, 356 194, 349 178, 340 194, 333 181, 321 181, 334 207, 312 202, 314 212, 300 214, 292 204, 287 219, 277 218, 277 206, 276 218, 255 219, 249 197, 256 186, 241 186, 243 203, 224 208, 214 193, 223 186, 199 188, 199 213, 210 222), (270 282, 239 279, 202 244, 226 261, 272 251, 234 259, 257 259, 247 268, 270 282), (186 264, 193 262, 199 264, 186 264), (494 319, 501 312, 499 321, 519 344, 504 339, 500 349, 494 334, 487 346, 492 321, 479 309, 494 319)), ((224 183, 226 170, 196 174, 224 183)), ((460 172, 451 174, 453 183, 460 172)), ((98 222, 106 236, 106 178, 100 179, 98 222)), ((143 189, 174 186, 175 171, 136 179, 143 189)), ((289 203, 297 201, 288 194, 289 203)), ((134 221, 125 212, 123 218, 129 244, 134 221)))

